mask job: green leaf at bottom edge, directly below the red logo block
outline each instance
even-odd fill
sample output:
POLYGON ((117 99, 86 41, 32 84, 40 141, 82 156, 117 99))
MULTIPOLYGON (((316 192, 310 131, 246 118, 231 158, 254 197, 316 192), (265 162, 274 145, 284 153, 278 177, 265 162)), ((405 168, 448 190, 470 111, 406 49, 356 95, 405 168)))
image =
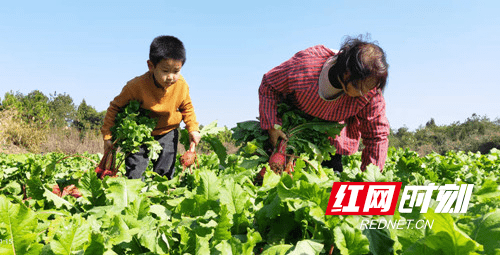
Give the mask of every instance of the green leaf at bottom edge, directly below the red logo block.
POLYGON ((358 228, 347 223, 335 227, 335 245, 342 255, 366 254, 370 252, 370 242, 358 228))

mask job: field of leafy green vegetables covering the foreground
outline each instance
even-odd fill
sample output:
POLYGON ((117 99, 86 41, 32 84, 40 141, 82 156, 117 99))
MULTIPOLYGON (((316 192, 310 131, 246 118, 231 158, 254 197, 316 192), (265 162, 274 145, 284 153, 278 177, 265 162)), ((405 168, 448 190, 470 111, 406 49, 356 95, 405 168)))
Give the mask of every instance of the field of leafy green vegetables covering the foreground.
POLYGON ((102 155, 80 156, 0 154, 0 254, 500 254, 498 150, 426 157, 390 150, 383 173, 374 166, 361 172, 360 155, 344 158, 341 174, 299 158, 281 176, 258 155, 219 151, 199 155, 182 178, 147 172, 145 181, 98 179, 102 155), (262 185, 255 185, 262 167, 262 185), (470 183, 474 191, 465 214, 326 216, 338 181, 470 183), (56 184, 81 194, 59 196, 56 184), (359 227, 382 218, 433 226, 359 227))

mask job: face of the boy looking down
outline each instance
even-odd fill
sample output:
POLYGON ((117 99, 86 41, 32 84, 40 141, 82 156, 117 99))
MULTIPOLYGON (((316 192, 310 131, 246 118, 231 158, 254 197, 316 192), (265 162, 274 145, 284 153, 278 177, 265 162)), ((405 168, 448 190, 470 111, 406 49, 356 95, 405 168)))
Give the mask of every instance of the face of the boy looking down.
POLYGON ((182 61, 176 59, 162 59, 156 66, 148 60, 148 68, 154 74, 156 82, 163 88, 168 88, 179 80, 182 61))

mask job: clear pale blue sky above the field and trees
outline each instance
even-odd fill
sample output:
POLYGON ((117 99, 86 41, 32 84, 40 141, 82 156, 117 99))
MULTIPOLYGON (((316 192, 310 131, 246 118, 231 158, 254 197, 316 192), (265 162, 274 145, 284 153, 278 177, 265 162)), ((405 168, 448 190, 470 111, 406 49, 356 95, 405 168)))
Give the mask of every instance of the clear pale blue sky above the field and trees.
POLYGON ((0 6, 0 98, 40 90, 98 111, 147 71, 149 45, 174 35, 198 120, 258 116, 262 75, 307 47, 370 33, 390 64, 391 128, 500 117, 500 2, 7 1, 0 6))

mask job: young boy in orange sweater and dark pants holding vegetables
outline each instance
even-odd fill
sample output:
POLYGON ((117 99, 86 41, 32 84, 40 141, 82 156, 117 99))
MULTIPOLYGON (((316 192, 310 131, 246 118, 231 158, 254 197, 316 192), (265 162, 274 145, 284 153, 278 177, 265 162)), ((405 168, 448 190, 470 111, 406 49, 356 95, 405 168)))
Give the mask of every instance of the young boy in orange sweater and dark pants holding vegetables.
MULTIPOLYGON (((116 114, 130 101, 137 100, 141 102, 141 108, 151 111, 151 117, 158 118, 152 135, 163 150, 153 162, 153 170, 172 179, 180 122, 184 121, 189 132, 190 150, 194 151, 201 138, 189 87, 180 74, 185 62, 186 50, 179 39, 159 36, 153 40, 147 61, 149 71, 130 80, 109 105, 101 128, 105 151, 112 147, 110 128, 114 125, 116 114)), ((126 176, 130 179, 143 178, 148 163, 147 151, 141 147, 138 153, 125 159, 126 176)))

